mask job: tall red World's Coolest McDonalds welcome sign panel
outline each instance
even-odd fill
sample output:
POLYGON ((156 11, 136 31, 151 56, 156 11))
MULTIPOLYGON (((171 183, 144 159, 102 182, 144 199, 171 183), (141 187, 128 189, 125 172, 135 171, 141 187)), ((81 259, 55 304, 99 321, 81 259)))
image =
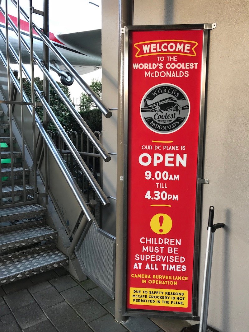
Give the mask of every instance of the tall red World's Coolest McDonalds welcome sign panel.
POLYGON ((128 309, 192 312, 203 34, 129 32, 128 309))

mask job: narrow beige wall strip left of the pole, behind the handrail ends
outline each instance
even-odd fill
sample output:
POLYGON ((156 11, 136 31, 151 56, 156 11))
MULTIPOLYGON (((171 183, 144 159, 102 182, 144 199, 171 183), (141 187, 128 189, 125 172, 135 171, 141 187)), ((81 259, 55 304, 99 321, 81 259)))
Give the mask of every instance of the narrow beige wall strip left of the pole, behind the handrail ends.
MULTIPOLYGON (((107 107, 117 108, 118 102, 118 45, 119 45, 119 2, 102 1, 102 89, 107 107)), ((108 152, 117 153, 117 111, 110 119, 103 117, 103 145, 108 152)), ((103 190, 107 196, 116 198, 117 156, 103 162, 103 190)), ((115 235, 116 201, 103 209, 103 229, 115 235)))

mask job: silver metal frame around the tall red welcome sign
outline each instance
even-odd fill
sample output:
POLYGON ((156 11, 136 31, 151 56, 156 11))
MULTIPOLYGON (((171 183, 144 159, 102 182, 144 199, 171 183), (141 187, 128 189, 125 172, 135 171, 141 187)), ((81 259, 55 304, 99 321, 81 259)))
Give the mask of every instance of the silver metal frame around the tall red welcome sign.
MULTIPOLYGON (((198 281, 199 281, 199 245, 200 245, 200 218, 201 218, 201 196, 203 172, 203 143, 204 143, 204 122, 205 122, 205 89, 207 75, 207 47, 208 32, 214 29, 216 24, 192 24, 192 25, 163 25, 163 26, 126 26, 124 27, 124 218, 123 218, 123 295, 122 310, 123 316, 166 316, 175 319, 199 320, 198 310, 198 281), (203 30, 203 53, 201 69, 201 91, 200 91, 200 121, 199 121, 199 141, 198 141, 198 164, 197 164, 197 192, 195 211, 195 241, 194 241, 194 264, 193 264, 193 291, 192 291, 192 312, 156 311, 127 309, 126 307, 126 255, 127 255, 127 153, 128 153, 128 70, 129 70, 129 32, 149 31, 149 30, 203 30)), ((117 278, 117 276, 116 276, 117 278)))

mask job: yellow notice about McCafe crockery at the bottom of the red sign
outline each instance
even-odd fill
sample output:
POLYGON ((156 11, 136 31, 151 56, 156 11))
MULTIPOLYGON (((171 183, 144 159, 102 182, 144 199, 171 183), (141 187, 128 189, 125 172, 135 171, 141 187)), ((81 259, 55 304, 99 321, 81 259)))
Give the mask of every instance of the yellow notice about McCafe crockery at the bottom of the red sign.
POLYGON ((187 308, 188 291, 131 287, 130 304, 187 308))

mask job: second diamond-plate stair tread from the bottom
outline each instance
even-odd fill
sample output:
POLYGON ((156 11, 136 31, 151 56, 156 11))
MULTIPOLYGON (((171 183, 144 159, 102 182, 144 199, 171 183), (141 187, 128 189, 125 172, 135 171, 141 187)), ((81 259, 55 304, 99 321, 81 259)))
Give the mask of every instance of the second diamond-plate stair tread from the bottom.
POLYGON ((55 239, 57 232, 48 225, 20 229, 1 234, 0 250, 20 248, 21 246, 55 239))

